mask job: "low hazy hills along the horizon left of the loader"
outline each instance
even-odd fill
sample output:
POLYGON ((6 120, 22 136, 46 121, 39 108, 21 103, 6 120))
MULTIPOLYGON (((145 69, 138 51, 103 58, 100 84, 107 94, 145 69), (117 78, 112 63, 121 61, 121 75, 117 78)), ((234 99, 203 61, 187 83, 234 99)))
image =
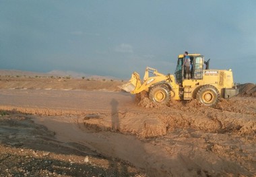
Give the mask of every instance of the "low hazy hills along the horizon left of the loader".
POLYGON ((73 78, 78 78, 78 77, 85 77, 85 78, 90 78, 94 80, 110 80, 110 79, 115 79, 119 80, 117 77, 110 77, 110 76, 101 76, 101 75, 88 75, 86 73, 78 73, 75 71, 59 71, 59 70, 54 70, 50 71, 48 73, 39 73, 39 72, 32 72, 32 71, 22 71, 22 70, 7 70, 7 69, 0 69, 0 75, 3 76, 22 76, 22 77, 36 77, 36 76, 41 76, 41 77, 73 77, 73 78))

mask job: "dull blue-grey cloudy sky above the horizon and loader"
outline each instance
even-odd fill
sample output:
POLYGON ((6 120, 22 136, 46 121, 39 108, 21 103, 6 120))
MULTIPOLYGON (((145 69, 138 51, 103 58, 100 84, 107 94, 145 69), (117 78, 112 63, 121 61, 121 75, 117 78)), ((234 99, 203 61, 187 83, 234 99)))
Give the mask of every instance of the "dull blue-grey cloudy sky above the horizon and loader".
MULTIPOLYGON (((185 50, 256 83, 256 1, 0 0, 0 69, 129 79, 185 50)), ((142 77, 142 76, 141 76, 142 77)))

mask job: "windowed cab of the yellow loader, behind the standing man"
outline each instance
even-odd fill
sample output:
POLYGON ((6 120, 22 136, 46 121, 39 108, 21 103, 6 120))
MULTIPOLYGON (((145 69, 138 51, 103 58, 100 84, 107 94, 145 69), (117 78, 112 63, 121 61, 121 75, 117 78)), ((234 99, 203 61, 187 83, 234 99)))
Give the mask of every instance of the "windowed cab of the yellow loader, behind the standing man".
MULTIPOLYGON (((203 61, 204 57, 200 54, 190 54, 191 62, 191 79, 203 79, 203 61)), ((185 71, 184 67, 182 67, 184 63, 184 56, 179 55, 177 61, 177 67, 175 70, 175 77, 177 83, 182 83, 183 79, 185 79, 185 71)))

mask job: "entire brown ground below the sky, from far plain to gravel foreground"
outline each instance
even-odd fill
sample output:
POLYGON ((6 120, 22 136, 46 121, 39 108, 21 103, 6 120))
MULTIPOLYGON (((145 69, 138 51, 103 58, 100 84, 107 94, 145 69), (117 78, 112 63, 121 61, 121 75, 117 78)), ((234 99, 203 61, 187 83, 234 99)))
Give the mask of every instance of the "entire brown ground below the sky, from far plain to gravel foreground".
POLYGON ((115 79, 0 75, 0 176, 256 176, 253 83, 208 108, 115 79))

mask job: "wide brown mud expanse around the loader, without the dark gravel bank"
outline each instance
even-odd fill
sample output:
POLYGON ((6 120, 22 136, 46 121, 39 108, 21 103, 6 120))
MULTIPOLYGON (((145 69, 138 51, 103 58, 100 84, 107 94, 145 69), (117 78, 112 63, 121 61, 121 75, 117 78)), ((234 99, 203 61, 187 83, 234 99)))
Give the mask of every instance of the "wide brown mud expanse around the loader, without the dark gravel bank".
POLYGON ((147 176, 255 176, 256 98, 139 102, 123 92, 1 90, 0 109, 30 113, 55 139, 128 162, 147 176))

